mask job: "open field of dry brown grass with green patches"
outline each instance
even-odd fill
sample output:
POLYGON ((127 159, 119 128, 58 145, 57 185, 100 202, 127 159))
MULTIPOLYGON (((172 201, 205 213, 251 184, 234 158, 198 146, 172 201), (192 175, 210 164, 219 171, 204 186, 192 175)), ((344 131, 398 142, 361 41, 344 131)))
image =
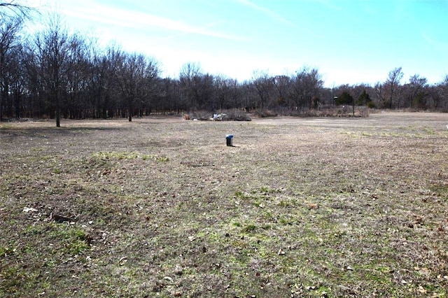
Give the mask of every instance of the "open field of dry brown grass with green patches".
POLYGON ((1 123, 0 297, 447 297, 447 125, 1 123))

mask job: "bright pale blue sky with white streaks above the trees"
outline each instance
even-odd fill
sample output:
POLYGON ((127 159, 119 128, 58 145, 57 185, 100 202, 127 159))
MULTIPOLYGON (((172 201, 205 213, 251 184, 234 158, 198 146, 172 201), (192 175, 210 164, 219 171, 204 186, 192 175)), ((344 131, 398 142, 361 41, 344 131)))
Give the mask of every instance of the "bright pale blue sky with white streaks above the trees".
MULTIPOLYGON (((157 60, 251 80, 318 69, 326 87, 448 75, 448 0, 29 0, 69 31, 157 60)), ((45 18, 45 17, 43 17, 45 18)))

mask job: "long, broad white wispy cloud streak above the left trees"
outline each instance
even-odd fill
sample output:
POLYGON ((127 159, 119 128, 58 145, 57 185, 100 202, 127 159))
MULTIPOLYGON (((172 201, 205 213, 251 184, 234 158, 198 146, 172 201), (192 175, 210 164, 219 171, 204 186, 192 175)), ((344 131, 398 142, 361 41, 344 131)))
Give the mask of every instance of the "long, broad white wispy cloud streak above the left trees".
POLYGON ((195 26, 179 20, 172 20, 167 17, 152 15, 150 13, 141 13, 132 10, 123 10, 111 6, 88 4, 88 9, 83 6, 73 6, 64 13, 80 20, 93 21, 105 25, 127 27, 132 29, 162 29, 171 32, 180 32, 184 34, 198 34, 215 38, 223 38, 232 41, 244 40, 241 36, 225 34, 214 30, 214 24, 204 24, 204 26, 195 26))

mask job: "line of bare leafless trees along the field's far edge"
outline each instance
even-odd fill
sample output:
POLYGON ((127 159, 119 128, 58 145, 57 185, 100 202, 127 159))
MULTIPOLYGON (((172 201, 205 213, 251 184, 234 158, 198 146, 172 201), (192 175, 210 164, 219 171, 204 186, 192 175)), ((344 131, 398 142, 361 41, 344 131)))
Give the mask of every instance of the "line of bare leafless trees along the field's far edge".
POLYGON ((308 67, 276 76, 254 71, 239 82, 189 62, 179 78, 162 78, 153 57, 116 45, 99 47, 93 38, 66 29, 57 15, 25 36, 28 10, 16 6, 0 3, 0 120, 52 118, 59 127, 61 118, 132 121, 151 113, 234 108, 300 113, 334 105, 448 111, 448 74, 433 85, 419 74, 402 83, 397 67, 375 85, 329 88, 318 69, 308 67))

